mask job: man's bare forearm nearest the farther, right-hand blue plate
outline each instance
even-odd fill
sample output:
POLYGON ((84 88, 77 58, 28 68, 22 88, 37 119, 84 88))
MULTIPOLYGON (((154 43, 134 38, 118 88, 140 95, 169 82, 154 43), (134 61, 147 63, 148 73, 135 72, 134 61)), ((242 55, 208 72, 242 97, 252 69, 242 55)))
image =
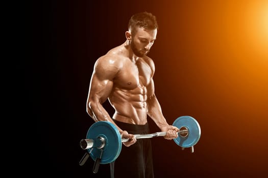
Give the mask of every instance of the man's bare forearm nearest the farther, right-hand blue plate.
POLYGON ((161 129, 162 127, 167 126, 166 119, 162 113, 161 106, 155 97, 151 97, 147 101, 148 103, 148 112, 147 114, 152 118, 152 120, 156 123, 156 125, 161 129))

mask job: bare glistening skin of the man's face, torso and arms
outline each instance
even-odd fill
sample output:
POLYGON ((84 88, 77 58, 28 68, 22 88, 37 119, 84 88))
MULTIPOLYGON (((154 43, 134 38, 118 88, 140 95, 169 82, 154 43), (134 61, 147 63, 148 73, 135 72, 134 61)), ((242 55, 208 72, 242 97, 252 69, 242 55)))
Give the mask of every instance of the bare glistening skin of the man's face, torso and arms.
POLYGON ((111 119, 102 104, 108 99, 115 109, 114 120, 144 125, 149 115, 165 139, 177 138, 177 127, 168 125, 155 96, 153 76, 155 66, 146 54, 156 40, 157 29, 137 27, 134 36, 126 32, 126 42, 101 56, 94 65, 87 99, 87 112, 95 122, 109 121, 119 130, 124 142, 130 146, 136 138, 121 130, 111 119))

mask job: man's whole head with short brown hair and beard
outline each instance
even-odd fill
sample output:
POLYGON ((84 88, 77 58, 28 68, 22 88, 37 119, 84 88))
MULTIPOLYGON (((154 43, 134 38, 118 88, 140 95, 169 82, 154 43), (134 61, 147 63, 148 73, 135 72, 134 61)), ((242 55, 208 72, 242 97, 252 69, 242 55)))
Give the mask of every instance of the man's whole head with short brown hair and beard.
POLYGON ((126 38, 130 41, 131 49, 138 57, 149 53, 157 35, 158 24, 156 17, 148 12, 134 14, 128 25, 126 38))

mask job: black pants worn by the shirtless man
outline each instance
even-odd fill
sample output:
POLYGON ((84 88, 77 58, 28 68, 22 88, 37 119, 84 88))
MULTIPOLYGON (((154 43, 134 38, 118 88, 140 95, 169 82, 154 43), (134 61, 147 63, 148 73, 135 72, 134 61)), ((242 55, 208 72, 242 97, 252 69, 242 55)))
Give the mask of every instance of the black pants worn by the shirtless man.
MULTIPOLYGON (((134 125, 115 121, 115 124, 130 134, 149 134, 149 125, 134 125)), ((137 139, 129 147, 122 144, 119 157, 110 163, 111 178, 153 178, 152 144, 150 138, 137 139)))

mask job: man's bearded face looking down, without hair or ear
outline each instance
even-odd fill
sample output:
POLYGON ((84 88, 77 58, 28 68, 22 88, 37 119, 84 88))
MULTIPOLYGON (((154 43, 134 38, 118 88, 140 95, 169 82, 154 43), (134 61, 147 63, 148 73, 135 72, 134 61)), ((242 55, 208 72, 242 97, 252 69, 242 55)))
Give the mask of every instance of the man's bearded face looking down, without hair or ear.
POLYGON ((137 27, 136 34, 132 36, 130 46, 134 54, 143 57, 148 54, 156 40, 157 29, 144 29, 137 27))

